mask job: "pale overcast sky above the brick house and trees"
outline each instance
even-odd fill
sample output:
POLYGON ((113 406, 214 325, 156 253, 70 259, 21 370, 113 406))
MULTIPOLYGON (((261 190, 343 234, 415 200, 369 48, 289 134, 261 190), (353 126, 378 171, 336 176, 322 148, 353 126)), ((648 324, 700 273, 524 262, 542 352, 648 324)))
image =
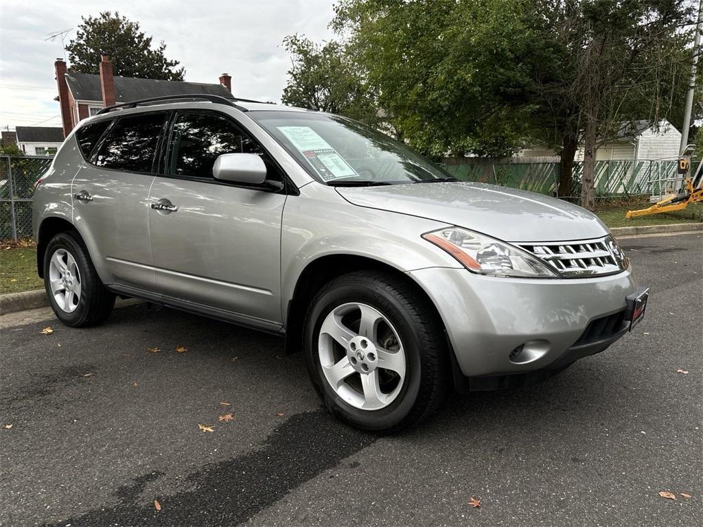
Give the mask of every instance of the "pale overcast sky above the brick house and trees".
MULTIPOLYGON (((333 37, 327 25, 333 0, 229 1, 8 1, 0 0, 0 127, 60 126, 53 63, 63 56, 60 39, 49 33, 72 28, 81 16, 120 11, 139 22, 155 42, 165 41, 167 58, 186 67, 186 81, 216 83, 232 75, 243 98, 280 101, 290 68, 281 41, 306 34, 333 37), (44 121, 44 122, 42 122, 44 121)), ((67 42, 67 41, 66 41, 67 42)))

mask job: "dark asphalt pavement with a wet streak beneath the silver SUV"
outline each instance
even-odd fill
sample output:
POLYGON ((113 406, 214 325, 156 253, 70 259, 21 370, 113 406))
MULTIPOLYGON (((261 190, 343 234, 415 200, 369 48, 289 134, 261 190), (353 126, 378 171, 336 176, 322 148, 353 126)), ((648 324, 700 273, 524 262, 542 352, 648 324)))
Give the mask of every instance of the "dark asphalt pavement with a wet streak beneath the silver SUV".
POLYGON ((699 525, 703 236, 623 245, 651 287, 636 331, 390 438, 322 410, 277 337, 143 304, 90 330, 6 315, 0 524, 699 525))

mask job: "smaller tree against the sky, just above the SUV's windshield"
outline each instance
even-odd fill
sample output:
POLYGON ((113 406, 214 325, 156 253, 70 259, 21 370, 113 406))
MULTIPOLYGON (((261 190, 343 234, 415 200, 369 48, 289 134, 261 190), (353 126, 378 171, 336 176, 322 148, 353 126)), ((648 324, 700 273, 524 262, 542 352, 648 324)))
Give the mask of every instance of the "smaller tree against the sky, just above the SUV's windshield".
POLYGON ((334 40, 315 44, 297 34, 285 37, 283 44, 292 61, 281 97, 283 103, 346 115, 378 126, 377 96, 344 46, 334 40))

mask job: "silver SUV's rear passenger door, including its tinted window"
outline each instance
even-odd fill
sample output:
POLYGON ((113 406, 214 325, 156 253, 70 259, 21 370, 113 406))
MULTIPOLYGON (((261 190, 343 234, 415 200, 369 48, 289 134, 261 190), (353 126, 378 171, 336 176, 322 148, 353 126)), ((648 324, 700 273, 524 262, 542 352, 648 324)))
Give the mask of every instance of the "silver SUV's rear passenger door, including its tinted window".
POLYGON ((148 197, 166 117, 117 117, 73 179, 74 222, 110 284, 154 289, 148 197))

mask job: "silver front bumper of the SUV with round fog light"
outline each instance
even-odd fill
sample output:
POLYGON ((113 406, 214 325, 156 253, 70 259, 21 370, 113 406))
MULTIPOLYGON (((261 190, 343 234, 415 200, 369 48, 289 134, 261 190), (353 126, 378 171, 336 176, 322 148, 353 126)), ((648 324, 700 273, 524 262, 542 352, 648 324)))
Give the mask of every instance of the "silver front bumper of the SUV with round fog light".
POLYGON ((408 275, 437 306, 456 365, 472 378, 558 371, 604 350, 627 332, 622 315, 635 291, 630 269, 567 280, 482 276, 460 268, 408 275), (603 332, 581 338, 602 320, 603 332))

